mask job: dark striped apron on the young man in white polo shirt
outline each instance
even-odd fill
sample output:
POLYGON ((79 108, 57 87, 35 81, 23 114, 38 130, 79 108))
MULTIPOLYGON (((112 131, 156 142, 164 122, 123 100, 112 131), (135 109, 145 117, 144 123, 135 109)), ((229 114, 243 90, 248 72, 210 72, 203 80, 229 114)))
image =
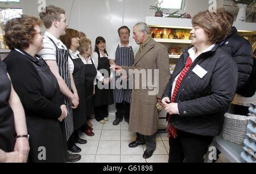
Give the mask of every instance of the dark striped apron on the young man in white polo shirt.
MULTIPOLYGON (((71 78, 70 78, 69 67, 68 67, 68 50, 58 48, 55 42, 51 38, 49 38, 49 40, 52 41, 52 43, 55 45, 55 48, 56 48, 56 62, 57 62, 57 65, 59 66, 60 76, 63 78, 64 82, 67 84, 69 90, 72 91, 71 78)), ((61 94, 61 96, 65 100, 65 105, 67 106, 67 110, 68 110, 67 118, 64 119, 66 140, 68 141, 69 137, 72 135, 74 131, 73 111, 71 108, 72 103, 69 100, 69 98, 64 94, 61 94)))

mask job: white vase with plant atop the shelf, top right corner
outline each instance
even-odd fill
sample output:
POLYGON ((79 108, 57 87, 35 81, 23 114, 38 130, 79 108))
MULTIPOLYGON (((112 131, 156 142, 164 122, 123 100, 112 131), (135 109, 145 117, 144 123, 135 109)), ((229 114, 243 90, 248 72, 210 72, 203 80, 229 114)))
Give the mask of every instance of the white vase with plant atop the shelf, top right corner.
POLYGON ((236 22, 245 22, 246 17, 249 16, 254 10, 254 3, 255 0, 233 0, 233 4, 237 5, 239 9, 236 22), (250 5, 252 6, 251 12, 246 16, 246 7, 250 5))

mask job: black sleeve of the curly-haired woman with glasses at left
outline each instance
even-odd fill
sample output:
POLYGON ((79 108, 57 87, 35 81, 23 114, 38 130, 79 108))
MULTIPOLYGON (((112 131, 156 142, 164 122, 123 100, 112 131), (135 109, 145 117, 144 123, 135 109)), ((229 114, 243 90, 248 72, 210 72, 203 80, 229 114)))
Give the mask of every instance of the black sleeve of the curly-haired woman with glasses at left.
POLYGON ((35 115, 59 118, 61 109, 42 95, 42 81, 34 65, 20 57, 14 57, 12 62, 7 63, 7 70, 24 109, 35 115))

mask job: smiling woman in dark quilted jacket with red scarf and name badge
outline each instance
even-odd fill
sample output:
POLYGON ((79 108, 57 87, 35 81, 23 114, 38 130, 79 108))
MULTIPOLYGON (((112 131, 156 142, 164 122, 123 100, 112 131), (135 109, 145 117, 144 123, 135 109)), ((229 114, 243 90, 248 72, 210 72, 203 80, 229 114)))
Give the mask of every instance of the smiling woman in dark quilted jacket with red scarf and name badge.
POLYGON ((236 63, 217 44, 232 26, 209 11, 195 15, 192 24, 192 46, 181 55, 162 97, 169 162, 203 162, 237 87, 236 63))

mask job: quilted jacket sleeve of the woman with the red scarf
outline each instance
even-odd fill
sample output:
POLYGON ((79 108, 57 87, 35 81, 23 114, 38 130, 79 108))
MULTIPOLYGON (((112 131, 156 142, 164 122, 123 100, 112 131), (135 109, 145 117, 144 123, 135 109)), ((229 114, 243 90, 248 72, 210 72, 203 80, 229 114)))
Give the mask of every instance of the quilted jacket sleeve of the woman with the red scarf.
POLYGON ((237 67, 231 57, 220 55, 216 62, 211 79, 210 94, 195 100, 178 103, 181 117, 203 116, 223 111, 233 100, 237 86, 237 67))

